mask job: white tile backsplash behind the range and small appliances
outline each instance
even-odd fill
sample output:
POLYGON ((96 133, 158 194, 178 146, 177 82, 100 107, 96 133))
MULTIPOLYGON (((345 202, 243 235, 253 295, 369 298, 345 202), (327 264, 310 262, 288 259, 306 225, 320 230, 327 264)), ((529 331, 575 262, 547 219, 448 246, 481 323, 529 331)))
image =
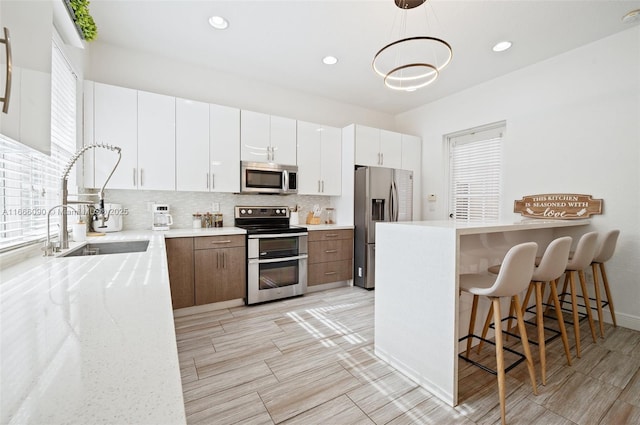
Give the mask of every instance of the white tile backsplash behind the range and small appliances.
POLYGON ((237 195, 233 193, 176 192, 156 190, 105 190, 105 202, 122 204, 127 213, 123 217, 123 230, 144 230, 151 228, 153 203, 169 204, 174 229, 190 228, 196 212, 214 212, 213 204, 220 204, 220 212, 225 226, 233 226, 233 208, 247 206, 287 206, 300 208, 300 223, 304 224, 306 214, 315 204, 321 208, 331 206, 327 196, 307 195, 237 195))

